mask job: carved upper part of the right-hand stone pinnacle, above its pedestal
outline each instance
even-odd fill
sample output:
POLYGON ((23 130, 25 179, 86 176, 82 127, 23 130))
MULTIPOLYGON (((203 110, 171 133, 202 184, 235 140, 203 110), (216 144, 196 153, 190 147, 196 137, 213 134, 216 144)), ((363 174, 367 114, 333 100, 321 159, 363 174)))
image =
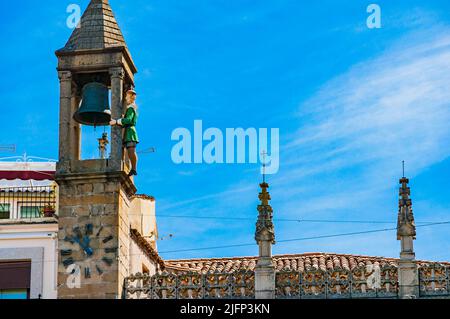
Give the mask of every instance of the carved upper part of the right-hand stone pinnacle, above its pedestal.
POLYGON ((416 239, 416 225, 414 223, 414 214, 412 211, 412 202, 410 198, 411 189, 408 187, 409 180, 406 177, 400 179, 399 201, 398 201, 398 220, 397 220, 397 239, 411 236, 416 239))

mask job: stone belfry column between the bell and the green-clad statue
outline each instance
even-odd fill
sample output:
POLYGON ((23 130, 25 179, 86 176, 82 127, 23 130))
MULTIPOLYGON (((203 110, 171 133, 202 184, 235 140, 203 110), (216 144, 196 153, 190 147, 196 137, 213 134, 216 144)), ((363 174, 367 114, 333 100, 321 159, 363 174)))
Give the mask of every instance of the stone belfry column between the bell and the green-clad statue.
MULTIPOLYGON (((109 70, 111 75, 111 116, 117 120, 123 113, 123 80, 125 72, 122 67, 109 70)), ((115 170, 123 170, 122 128, 111 128, 111 166, 115 170)))

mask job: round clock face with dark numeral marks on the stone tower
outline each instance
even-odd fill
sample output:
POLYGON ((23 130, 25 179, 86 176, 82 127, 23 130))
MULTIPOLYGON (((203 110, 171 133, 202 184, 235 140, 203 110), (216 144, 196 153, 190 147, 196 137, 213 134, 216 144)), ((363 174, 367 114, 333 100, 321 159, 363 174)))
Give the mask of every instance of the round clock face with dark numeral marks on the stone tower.
POLYGON ((103 226, 94 227, 93 224, 86 224, 67 229, 64 241, 69 243, 71 248, 60 252, 64 267, 76 263, 83 271, 84 278, 91 278, 92 272, 101 276, 117 257, 117 247, 114 247, 113 239, 114 236, 106 233, 103 226), (96 247, 103 246, 103 248, 91 247, 93 241, 98 242, 96 247), (81 261, 74 261, 75 252, 81 252, 83 256, 81 261))

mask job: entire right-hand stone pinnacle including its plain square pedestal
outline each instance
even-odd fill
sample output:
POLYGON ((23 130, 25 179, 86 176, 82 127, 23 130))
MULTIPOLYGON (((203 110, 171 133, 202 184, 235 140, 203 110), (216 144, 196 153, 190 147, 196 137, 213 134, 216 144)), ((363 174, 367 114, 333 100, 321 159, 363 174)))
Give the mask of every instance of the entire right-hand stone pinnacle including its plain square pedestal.
POLYGON ((400 199, 397 221, 397 240, 401 242, 398 262, 399 296, 402 299, 419 298, 419 271, 415 261, 413 242, 416 226, 410 199, 409 180, 400 179, 400 199))

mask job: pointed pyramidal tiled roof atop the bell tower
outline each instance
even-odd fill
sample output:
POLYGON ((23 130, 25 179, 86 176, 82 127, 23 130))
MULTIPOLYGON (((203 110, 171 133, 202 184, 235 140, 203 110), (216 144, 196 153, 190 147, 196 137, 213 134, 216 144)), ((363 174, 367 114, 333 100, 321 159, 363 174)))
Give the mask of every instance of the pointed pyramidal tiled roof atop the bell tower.
POLYGON ((59 52, 126 46, 108 0, 91 0, 81 17, 80 25, 59 52))

